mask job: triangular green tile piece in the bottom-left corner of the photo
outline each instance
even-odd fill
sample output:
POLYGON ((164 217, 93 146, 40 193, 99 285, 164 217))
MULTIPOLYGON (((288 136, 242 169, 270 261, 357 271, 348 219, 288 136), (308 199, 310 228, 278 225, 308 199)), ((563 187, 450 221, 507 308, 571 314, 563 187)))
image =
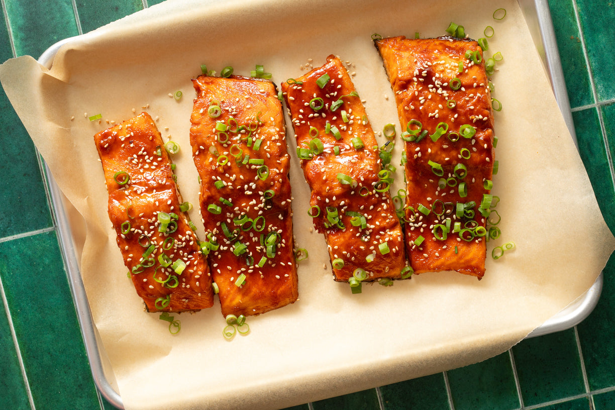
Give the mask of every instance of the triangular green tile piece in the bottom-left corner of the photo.
POLYGON ((6 409, 30 409, 9 320, 0 303, 0 403, 6 409))

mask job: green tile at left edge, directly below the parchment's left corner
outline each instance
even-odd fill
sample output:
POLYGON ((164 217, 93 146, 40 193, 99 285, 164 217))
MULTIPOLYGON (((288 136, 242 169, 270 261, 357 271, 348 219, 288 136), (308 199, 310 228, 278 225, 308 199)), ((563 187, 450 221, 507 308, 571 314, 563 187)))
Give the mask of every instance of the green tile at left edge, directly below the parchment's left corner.
POLYGON ((0 89, 0 237, 52 226, 34 144, 0 89))

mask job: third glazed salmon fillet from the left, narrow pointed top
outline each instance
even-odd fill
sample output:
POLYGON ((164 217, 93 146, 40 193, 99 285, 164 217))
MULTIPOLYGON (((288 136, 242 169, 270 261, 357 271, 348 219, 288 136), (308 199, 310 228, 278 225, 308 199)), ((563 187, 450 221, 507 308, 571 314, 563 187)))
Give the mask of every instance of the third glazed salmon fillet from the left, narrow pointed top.
POLYGON ((379 174, 378 144, 346 68, 330 55, 323 66, 284 82, 282 92, 333 278, 347 282, 357 269, 366 281, 401 278, 403 234, 389 172, 379 174))

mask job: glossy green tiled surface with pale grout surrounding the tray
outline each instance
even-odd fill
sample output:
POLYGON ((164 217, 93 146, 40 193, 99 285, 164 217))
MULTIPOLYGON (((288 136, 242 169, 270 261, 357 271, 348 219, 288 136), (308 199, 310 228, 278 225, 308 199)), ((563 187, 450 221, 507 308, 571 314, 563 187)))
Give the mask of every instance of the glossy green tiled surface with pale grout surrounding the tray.
MULTIPOLYGON (((0 61, 38 57, 153 0, 0 0, 0 61)), ((615 2, 550 0, 581 157, 615 232, 615 2)), ((0 408, 113 409, 95 388, 33 144, 0 90, 0 408), (18 218, 18 219, 17 219, 18 218), (44 287, 28 283, 45 277, 44 287), (45 314, 42 314, 45 313, 45 314)), ((476 365, 306 403, 302 410, 615 409, 615 257, 572 329, 476 365)))

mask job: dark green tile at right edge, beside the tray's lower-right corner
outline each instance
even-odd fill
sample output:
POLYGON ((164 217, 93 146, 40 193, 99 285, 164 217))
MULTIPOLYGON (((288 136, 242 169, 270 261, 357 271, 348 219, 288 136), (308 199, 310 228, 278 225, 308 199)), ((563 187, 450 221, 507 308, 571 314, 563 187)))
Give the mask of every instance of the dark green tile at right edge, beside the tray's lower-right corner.
MULTIPOLYGON (((615 256, 604 269, 602 294, 579 325, 579 340, 590 390, 615 386, 615 256)), ((613 407, 615 408, 615 406, 613 407)))

